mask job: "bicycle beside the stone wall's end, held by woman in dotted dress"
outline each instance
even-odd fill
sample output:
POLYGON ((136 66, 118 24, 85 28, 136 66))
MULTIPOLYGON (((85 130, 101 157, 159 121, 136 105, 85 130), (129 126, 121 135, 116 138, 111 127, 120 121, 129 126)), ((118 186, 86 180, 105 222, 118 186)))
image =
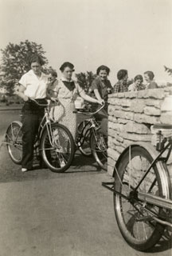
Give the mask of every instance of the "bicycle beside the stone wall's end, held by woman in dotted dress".
POLYGON ((93 156, 98 165, 107 170, 108 159, 108 136, 100 131, 100 122, 96 120, 95 115, 104 109, 104 105, 100 106, 95 112, 89 110, 75 110, 76 114, 84 114, 86 118, 80 122, 77 128, 76 146, 81 154, 86 157, 93 156))

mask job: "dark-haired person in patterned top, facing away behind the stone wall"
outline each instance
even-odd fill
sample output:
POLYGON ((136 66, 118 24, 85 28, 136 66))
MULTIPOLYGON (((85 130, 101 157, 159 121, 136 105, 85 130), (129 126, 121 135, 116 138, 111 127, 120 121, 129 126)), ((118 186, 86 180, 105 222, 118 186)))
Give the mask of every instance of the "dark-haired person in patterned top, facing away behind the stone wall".
POLYGON ((127 70, 119 70, 117 73, 118 82, 115 83, 114 93, 123 93, 128 90, 127 86, 127 78, 128 73, 127 70))

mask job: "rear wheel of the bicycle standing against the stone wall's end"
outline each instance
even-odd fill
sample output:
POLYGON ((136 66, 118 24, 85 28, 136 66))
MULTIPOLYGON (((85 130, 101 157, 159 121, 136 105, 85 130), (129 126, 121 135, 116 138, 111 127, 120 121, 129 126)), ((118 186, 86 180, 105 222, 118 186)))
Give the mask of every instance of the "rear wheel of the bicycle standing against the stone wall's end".
POLYGON ((84 120, 83 122, 80 122, 80 125, 77 129, 78 138, 80 138, 82 135, 82 138, 80 138, 80 142, 77 143, 77 146, 80 150, 80 153, 85 157, 92 156, 92 150, 90 148, 90 131, 88 131, 89 128, 90 122, 88 122, 88 120, 84 120))

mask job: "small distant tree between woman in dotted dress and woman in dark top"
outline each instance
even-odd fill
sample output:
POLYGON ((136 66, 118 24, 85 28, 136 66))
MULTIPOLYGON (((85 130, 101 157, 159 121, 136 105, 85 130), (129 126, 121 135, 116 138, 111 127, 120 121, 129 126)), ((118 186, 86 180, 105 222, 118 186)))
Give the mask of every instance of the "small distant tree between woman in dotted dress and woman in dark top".
POLYGON ((86 73, 80 72, 76 74, 77 82, 80 87, 82 87, 85 92, 88 93, 88 90, 92 84, 92 81, 96 78, 96 74, 93 74, 92 71, 87 71, 86 73))

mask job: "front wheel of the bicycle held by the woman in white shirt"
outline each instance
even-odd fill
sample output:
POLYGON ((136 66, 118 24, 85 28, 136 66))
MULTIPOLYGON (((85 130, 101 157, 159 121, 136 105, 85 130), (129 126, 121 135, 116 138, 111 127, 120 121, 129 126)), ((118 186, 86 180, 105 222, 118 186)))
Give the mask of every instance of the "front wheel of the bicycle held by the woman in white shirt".
POLYGON ((48 131, 41 137, 41 154, 45 164, 53 172, 65 172, 71 165, 75 154, 75 144, 70 131, 61 124, 52 124, 53 146, 49 142, 48 131))

